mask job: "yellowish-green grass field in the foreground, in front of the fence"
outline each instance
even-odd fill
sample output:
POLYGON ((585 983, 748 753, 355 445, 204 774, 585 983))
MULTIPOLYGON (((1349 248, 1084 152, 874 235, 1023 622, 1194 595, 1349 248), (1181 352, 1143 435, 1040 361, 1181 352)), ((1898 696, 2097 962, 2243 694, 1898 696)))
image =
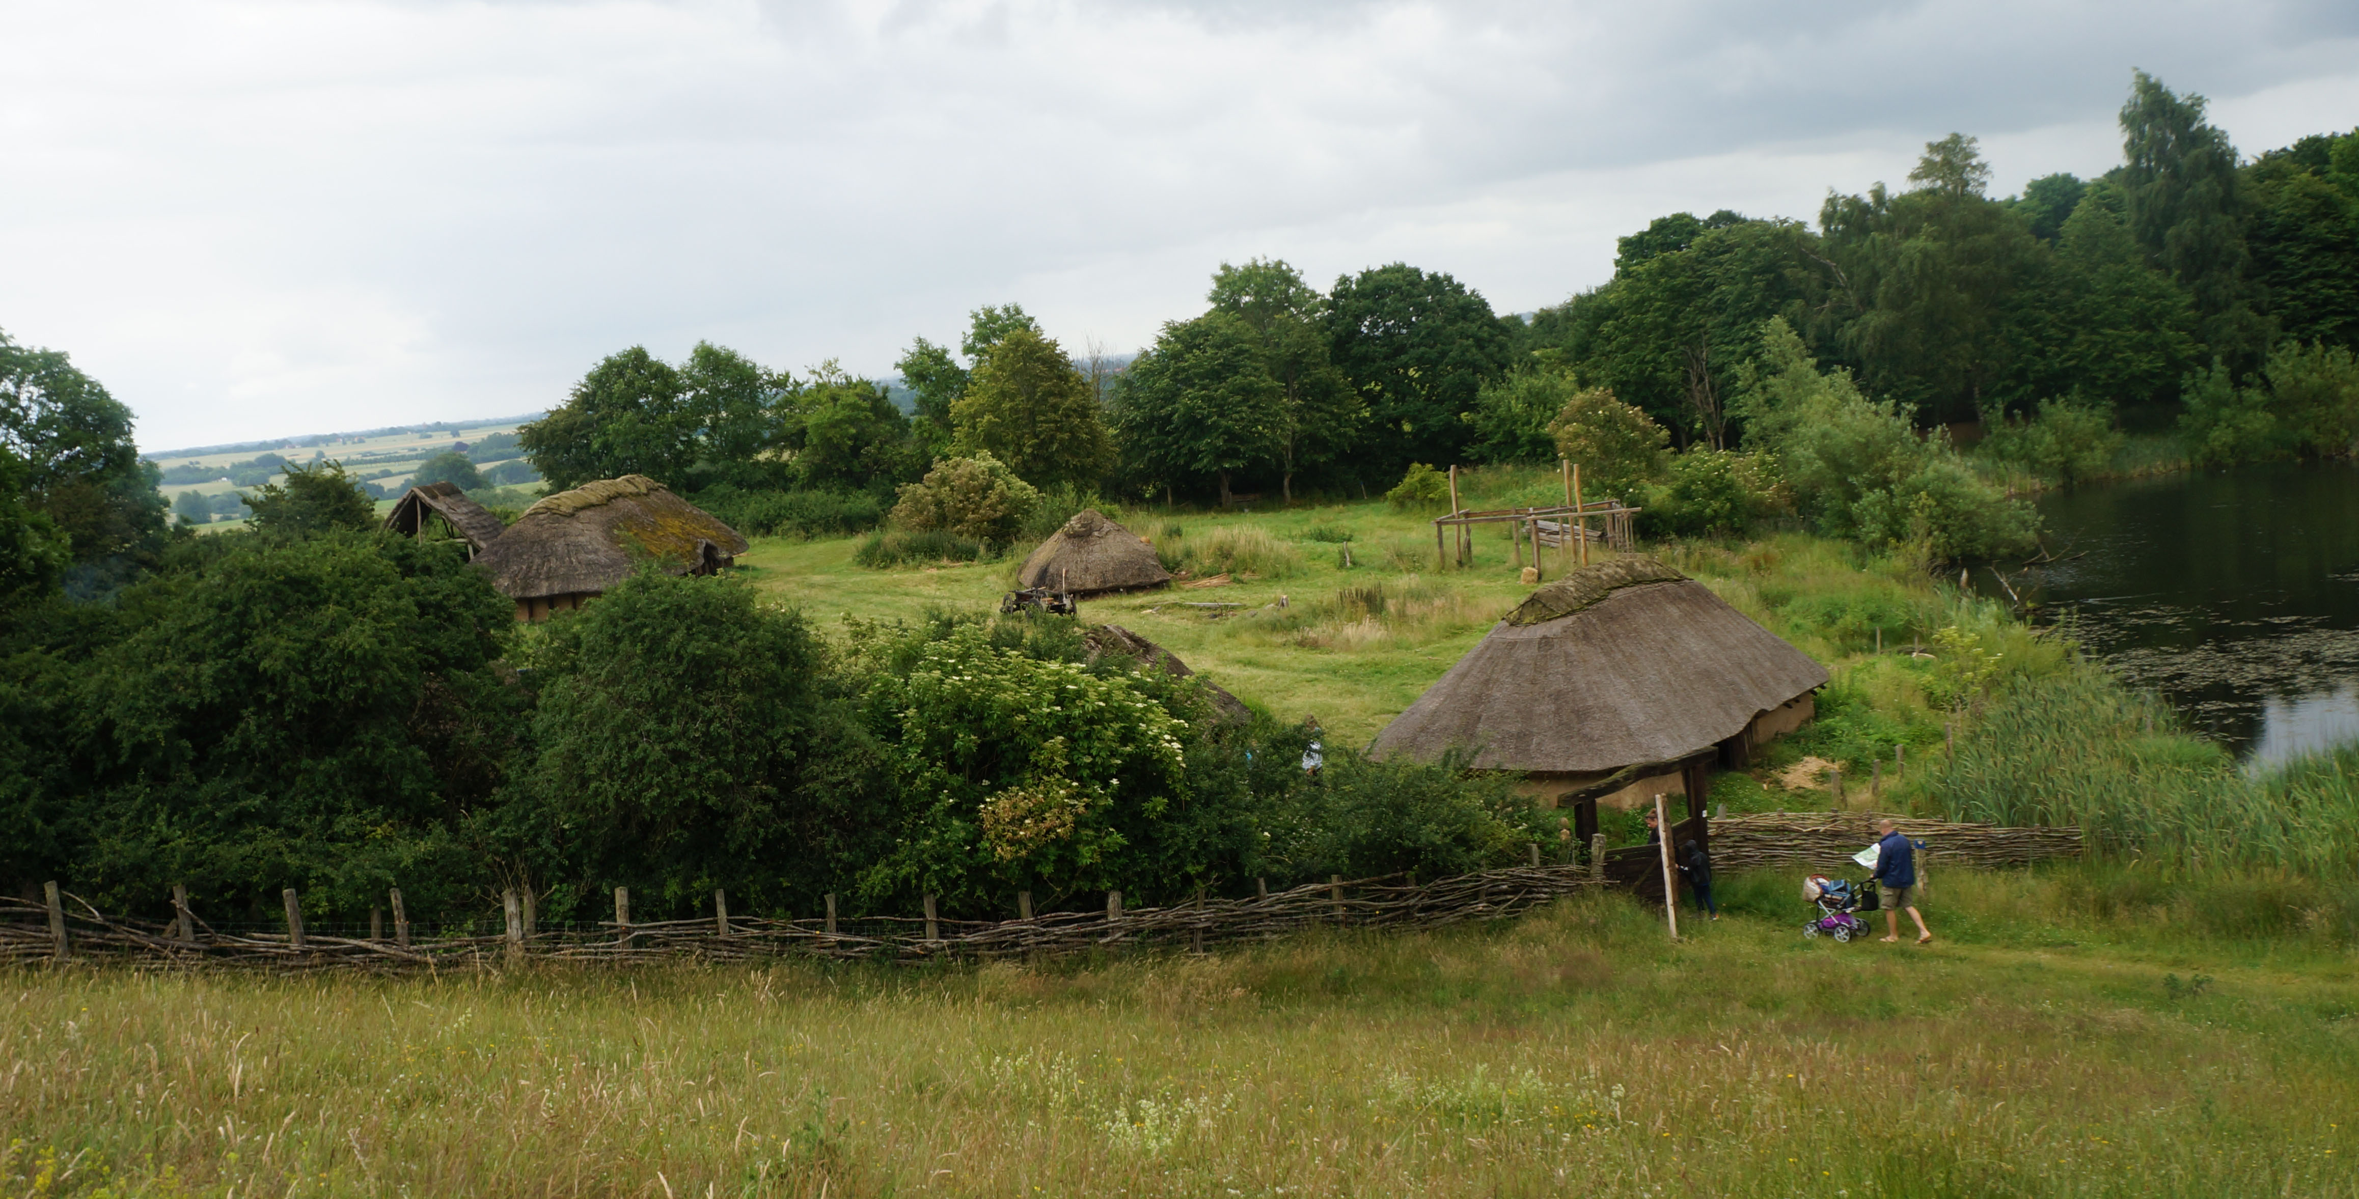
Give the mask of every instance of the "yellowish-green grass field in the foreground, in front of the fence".
POLYGON ((2359 970, 1932 880, 1934 946, 1489 930, 937 970, 24 970, 5 1194, 2359 1194, 2359 970))

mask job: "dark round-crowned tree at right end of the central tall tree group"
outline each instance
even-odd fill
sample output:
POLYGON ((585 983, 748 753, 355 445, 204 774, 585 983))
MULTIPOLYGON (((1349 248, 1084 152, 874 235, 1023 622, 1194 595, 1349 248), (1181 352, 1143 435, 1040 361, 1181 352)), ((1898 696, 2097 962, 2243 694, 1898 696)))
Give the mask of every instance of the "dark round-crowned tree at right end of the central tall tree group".
POLYGON ((1481 295, 1406 262, 1342 276, 1328 293, 1328 354, 1366 401, 1361 472, 1394 477, 1411 460, 1456 463, 1460 420, 1512 349, 1481 295))

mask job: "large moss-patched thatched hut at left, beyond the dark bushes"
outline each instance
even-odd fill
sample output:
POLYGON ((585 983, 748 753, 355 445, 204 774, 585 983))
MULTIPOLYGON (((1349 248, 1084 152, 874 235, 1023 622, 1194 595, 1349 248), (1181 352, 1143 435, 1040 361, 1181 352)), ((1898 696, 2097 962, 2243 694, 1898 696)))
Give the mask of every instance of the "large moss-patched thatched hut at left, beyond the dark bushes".
POLYGON ((519 621, 540 621, 630 578, 639 557, 672 574, 712 574, 743 552, 736 529, 644 474, 623 474, 526 507, 477 562, 517 602, 519 621))

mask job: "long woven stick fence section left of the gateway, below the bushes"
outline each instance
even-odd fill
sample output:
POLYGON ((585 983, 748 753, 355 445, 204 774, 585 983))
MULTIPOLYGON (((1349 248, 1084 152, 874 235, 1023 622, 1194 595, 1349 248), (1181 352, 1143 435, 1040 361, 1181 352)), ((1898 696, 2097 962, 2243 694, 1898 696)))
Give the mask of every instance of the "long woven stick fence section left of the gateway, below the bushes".
MULTIPOLYGON (((1172 906, 1123 909, 1121 892, 1106 911, 1059 911, 1029 920, 859 918, 856 932, 837 920, 778 920, 715 916, 696 920, 604 920, 590 930, 543 932, 510 904, 505 935, 323 937, 302 932, 295 899, 283 935, 224 935, 198 918, 182 925, 106 916, 71 892, 54 906, 0 899, 0 963, 132 961, 151 965, 257 965, 271 970, 413 970, 493 965, 517 958, 637 963, 748 961, 774 956, 920 963, 934 958, 1000 958, 1076 954, 1118 946, 1189 946, 1262 942, 1312 928, 1439 928, 1531 911, 1550 899, 1602 890, 1588 866, 1517 866, 1434 883, 1406 876, 1333 878, 1255 899, 1198 899, 1172 906)), ((932 906, 932 904, 929 904, 932 906)))

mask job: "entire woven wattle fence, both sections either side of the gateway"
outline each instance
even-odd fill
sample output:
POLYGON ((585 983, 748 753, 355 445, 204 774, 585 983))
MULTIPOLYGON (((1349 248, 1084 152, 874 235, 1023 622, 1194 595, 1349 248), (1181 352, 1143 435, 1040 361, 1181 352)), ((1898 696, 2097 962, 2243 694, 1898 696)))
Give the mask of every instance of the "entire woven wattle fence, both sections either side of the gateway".
MULTIPOLYGON (((1708 824, 1713 869, 1857 871, 1852 854, 1875 840, 1873 814, 1772 812, 1722 817, 1708 824)), ((2000 828, 1989 824, 1941 824, 1894 817, 1904 833, 1930 845, 1927 873, 1944 869, 2003 869, 2076 857, 2078 828, 2000 828)), ((1569 852, 1571 847, 1559 847, 1569 852)), ((597 925, 538 928, 528 897, 507 892, 493 932, 462 930, 413 935, 401 895, 392 892, 392 935, 373 920, 370 935, 307 932, 302 902, 285 892, 285 925, 278 932, 215 930, 175 895, 170 920, 109 916, 59 885, 42 902, 0 897, 0 963, 123 961, 139 965, 255 965, 269 970, 441 970, 517 961, 646 963, 646 961, 753 961, 845 958, 922 963, 941 958, 1007 958, 1106 951, 1128 946, 1205 949, 1210 944, 1267 942, 1314 928, 1441 928, 1519 916, 1548 902, 1588 890, 1635 885, 1661 902, 1661 869, 1651 847, 1604 850, 1602 838, 1588 861, 1543 864, 1531 847, 1529 866, 1496 869, 1418 883, 1411 876, 1330 878, 1250 899, 1196 899, 1172 906, 1125 909, 1121 892, 1106 895, 1104 911, 1054 911, 1017 920, 946 920, 925 916, 781 920, 731 916, 729 897, 712 895, 712 916, 694 920, 630 920, 630 892, 616 892, 616 918, 597 925), (1649 885, 1651 876, 1651 885, 1649 885)), ((1026 897, 1026 909, 1029 897, 1026 897)))

